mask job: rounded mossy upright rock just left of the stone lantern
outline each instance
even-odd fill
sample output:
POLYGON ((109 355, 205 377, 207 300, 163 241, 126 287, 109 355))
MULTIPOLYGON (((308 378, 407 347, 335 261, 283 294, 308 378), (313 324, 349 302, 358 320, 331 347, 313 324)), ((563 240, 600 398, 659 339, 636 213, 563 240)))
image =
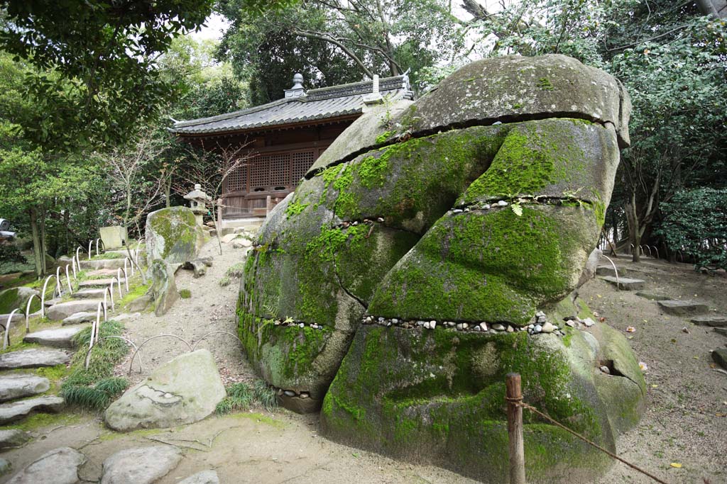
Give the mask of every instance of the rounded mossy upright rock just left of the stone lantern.
POLYGON ((146 258, 163 259, 174 270, 197 258, 204 245, 204 232, 197 225, 194 212, 186 207, 162 208, 146 217, 146 258))

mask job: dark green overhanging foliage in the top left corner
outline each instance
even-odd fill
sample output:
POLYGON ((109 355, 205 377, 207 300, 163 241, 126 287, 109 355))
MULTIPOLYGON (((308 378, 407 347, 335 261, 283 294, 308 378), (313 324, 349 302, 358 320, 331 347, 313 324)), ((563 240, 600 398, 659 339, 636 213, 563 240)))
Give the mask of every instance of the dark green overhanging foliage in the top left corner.
POLYGON ((1 0, 0 49, 28 62, 23 134, 45 149, 123 141, 152 119, 172 85, 156 57, 195 30, 212 0, 1 0))

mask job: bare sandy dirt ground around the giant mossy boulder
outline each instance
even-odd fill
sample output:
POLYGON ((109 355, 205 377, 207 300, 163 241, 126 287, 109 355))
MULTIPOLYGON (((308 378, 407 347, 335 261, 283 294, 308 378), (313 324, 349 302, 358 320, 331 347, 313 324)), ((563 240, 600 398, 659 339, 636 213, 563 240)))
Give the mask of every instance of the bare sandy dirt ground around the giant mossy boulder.
MULTIPOLYGON (((218 281, 228 266, 243 260, 243 253, 223 245, 220 256, 216 241, 210 242, 203 255, 214 255, 214 265, 206 276, 193 279, 188 271, 177 273, 177 287, 189 289, 192 297, 178 301, 161 318, 144 314, 125 321, 126 336, 141 343, 154 335, 172 334, 195 345, 212 331, 235 333, 238 282, 220 287, 218 281)), ((618 263, 632 266, 626 261, 618 263)), ((631 271, 646 279, 647 292, 704 300, 718 313, 727 313, 727 279, 696 274, 685 264, 657 261, 643 262, 631 271)), ((654 301, 635 292, 616 291, 600 279, 588 282, 579 293, 606 318, 606 324, 630 337, 637 358, 648 365, 646 414, 638 427, 619 439, 619 455, 670 484, 727 483, 727 375, 712 368, 709 353, 725 345, 727 337, 686 319, 664 316, 654 301), (629 326, 636 331, 626 333, 629 326), (683 332, 684 327, 688 332, 683 332), (672 467, 672 463, 682 467, 672 467)), ((212 351, 227 382, 254 380, 234 337, 209 335, 197 348, 212 351)), ((140 374, 134 363, 132 380, 140 380, 187 349, 172 337, 150 340, 141 350, 144 372, 140 374)), ((128 359, 119 366, 119 373, 127 368, 128 359)), ((1 456, 12 462, 12 475, 45 451, 71 446, 88 458, 81 477, 95 482, 100 478, 101 463, 113 452, 166 442, 180 446, 185 459, 159 481, 162 484, 177 483, 204 469, 216 469, 222 483, 475 483, 438 467, 397 462, 341 446, 319 436, 317 429, 317 416, 252 409, 173 430, 119 434, 105 429, 95 415, 75 414, 65 422, 34 430, 36 438, 31 443, 1 456)), ((620 463, 598 480, 598 484, 651 482, 620 463)))

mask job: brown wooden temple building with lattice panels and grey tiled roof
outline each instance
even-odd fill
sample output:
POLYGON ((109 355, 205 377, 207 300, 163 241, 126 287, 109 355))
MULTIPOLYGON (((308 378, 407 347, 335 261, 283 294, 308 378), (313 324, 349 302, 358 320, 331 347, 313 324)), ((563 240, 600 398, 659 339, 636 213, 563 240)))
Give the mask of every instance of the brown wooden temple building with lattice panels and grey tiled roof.
POLYGON ((178 121, 177 139, 204 149, 244 147, 249 157, 222 186, 222 228, 259 221, 292 192, 318 156, 367 105, 411 99, 406 75, 306 91, 302 75, 277 101, 224 115, 178 121))

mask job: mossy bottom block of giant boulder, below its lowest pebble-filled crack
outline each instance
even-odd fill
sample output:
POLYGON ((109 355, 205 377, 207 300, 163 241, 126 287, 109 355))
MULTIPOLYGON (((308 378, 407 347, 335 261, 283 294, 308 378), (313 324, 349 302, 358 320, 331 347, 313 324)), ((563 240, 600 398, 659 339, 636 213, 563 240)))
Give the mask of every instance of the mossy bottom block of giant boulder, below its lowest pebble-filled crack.
MULTIPOLYGON (((614 447, 601 402, 590 378, 573 371, 580 356, 571 351, 553 336, 537 340, 525 332, 361 327, 326 394, 321 426, 348 445, 502 483, 507 372, 521 374, 527 403, 614 447)), ((523 419, 528 482, 554 481, 571 467, 573 475, 593 477, 610 464, 534 414, 523 419)))

